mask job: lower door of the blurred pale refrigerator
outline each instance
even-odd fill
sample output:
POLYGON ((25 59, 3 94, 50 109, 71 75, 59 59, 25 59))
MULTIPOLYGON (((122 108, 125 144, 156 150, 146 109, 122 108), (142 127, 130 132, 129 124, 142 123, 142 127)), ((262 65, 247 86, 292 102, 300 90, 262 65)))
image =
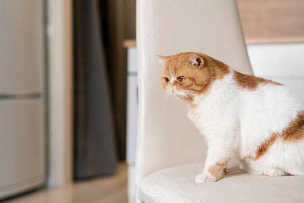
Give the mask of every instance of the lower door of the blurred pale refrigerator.
POLYGON ((43 183, 44 126, 42 99, 0 100, 0 199, 43 183))

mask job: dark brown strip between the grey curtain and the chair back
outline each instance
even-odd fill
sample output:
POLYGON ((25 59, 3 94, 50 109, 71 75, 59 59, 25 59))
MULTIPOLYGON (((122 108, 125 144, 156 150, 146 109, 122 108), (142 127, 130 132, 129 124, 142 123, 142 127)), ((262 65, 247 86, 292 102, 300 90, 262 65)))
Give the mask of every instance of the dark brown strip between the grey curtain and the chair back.
POLYGON ((115 113, 119 159, 126 156, 127 59, 123 40, 135 38, 136 0, 99 0, 101 32, 105 45, 109 81, 115 113))

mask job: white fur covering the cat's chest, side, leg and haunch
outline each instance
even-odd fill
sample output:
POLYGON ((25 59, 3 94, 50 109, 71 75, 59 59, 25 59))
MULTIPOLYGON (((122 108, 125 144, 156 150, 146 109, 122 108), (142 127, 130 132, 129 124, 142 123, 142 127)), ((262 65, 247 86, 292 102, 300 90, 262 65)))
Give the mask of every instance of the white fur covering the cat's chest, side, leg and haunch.
MULTIPOLYGON (((231 69, 232 70, 232 69, 231 69)), ((185 92, 176 92, 186 95, 185 92)), ((213 82, 207 93, 194 98, 188 117, 200 129, 208 143, 203 173, 196 182, 216 181, 208 168, 227 158, 255 157, 256 150, 271 133, 280 133, 304 110, 303 100, 285 85, 260 84, 255 90, 239 87, 234 71, 213 82)), ((243 160, 257 174, 304 175, 304 140, 281 139, 256 161, 243 160), (283 171, 283 172, 282 172, 283 171)))

